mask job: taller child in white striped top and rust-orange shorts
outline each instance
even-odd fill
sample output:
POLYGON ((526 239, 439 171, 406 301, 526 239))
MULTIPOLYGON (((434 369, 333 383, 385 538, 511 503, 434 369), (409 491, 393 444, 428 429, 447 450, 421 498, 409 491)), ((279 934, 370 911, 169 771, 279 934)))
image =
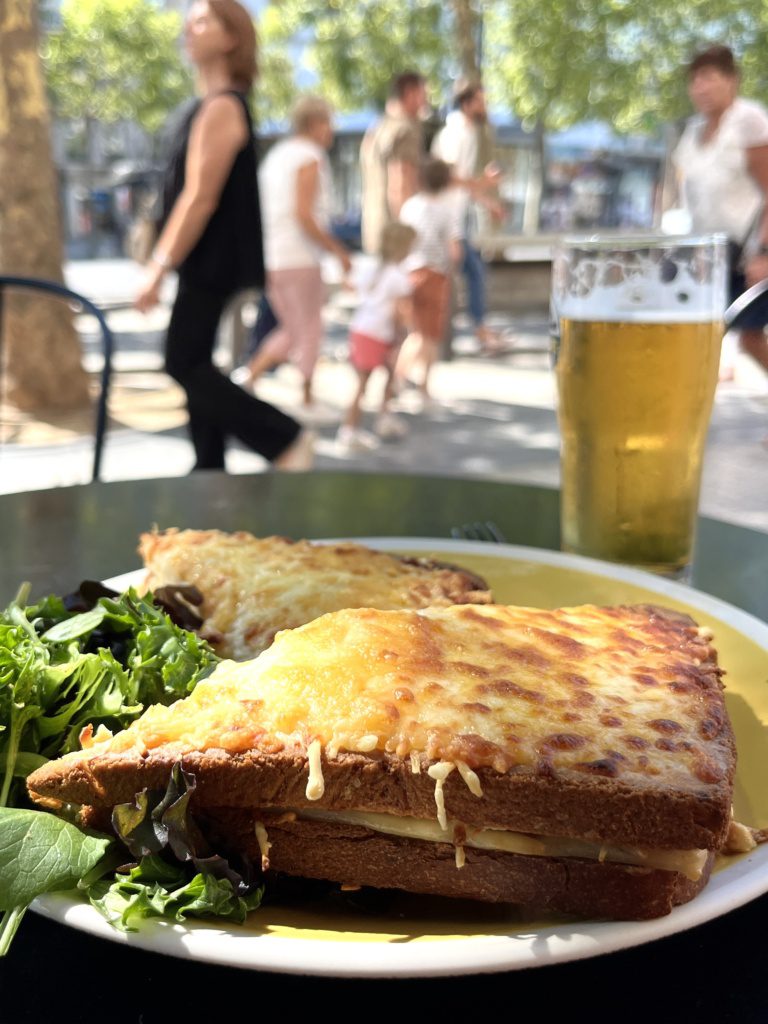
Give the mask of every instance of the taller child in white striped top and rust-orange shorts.
POLYGON ((452 188, 451 168, 428 160, 421 171, 421 191, 406 200, 400 220, 417 233, 409 257, 414 284, 414 334, 407 339, 397 367, 408 378, 422 364, 421 391, 429 399, 429 375, 437 360, 451 307, 451 273, 461 258, 462 225, 452 188))

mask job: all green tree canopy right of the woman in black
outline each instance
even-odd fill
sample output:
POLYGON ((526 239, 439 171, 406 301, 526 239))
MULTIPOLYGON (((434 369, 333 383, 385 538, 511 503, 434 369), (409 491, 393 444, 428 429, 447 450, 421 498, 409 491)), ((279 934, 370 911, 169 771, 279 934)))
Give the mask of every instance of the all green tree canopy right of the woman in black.
POLYGON ((406 68, 420 70, 444 96, 449 81, 472 62, 462 27, 480 17, 492 98, 531 126, 599 119, 618 131, 643 131, 684 117, 685 65, 713 42, 741 58, 744 94, 768 98, 764 2, 273 0, 262 35, 276 51, 300 40, 317 91, 354 110, 381 104, 389 79, 406 68))

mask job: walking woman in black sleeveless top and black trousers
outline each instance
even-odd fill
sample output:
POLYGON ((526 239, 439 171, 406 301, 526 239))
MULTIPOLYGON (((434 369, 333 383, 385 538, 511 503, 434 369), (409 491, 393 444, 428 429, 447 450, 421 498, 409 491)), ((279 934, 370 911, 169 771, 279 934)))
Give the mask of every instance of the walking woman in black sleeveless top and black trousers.
POLYGON ((256 34, 236 0, 191 5, 184 43, 202 98, 177 128, 164 185, 164 225, 136 308, 157 305, 165 274, 178 292, 166 339, 166 369, 186 392, 196 469, 223 469, 233 435, 283 469, 308 469, 311 437, 249 395, 213 365, 228 299, 262 287, 264 262, 256 152, 247 95, 256 75, 256 34))

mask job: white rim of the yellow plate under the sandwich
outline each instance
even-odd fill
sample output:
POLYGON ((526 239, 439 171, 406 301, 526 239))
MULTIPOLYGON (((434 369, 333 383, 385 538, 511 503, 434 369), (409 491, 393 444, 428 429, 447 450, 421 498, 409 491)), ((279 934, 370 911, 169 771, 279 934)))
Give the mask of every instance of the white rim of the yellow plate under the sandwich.
MULTIPOLYGON (((426 550, 500 556, 511 561, 572 568, 633 584, 713 615, 768 653, 768 624, 703 591, 641 569, 543 548, 445 538, 346 537, 313 541, 340 542, 365 544, 382 551, 426 550)), ((134 569, 111 577, 104 583, 108 586, 135 586, 143 572, 143 569, 134 569)), ((124 933, 113 928, 95 908, 69 894, 40 897, 33 909, 100 938, 222 967, 318 977, 427 978, 545 967, 632 948, 713 921, 766 891, 768 845, 758 847, 718 871, 694 900, 675 907, 665 918, 646 922, 559 923, 539 926, 527 937, 515 935, 512 927, 506 935, 438 936, 424 942, 377 941, 375 938, 333 941, 253 932, 238 934, 233 926, 222 928, 205 921, 169 925, 155 920, 143 922, 135 932, 124 933)))

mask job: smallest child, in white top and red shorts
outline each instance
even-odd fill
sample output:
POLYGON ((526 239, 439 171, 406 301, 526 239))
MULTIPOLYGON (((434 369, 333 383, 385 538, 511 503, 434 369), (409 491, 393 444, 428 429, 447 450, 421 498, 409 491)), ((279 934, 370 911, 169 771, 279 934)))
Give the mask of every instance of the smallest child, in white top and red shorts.
POLYGON ((399 342, 411 321, 413 284, 400 264, 415 240, 413 227, 398 221, 387 224, 382 231, 379 260, 361 270, 356 282, 360 301, 349 325, 349 357, 357 371, 357 390, 336 435, 339 444, 349 450, 377 444, 372 434, 360 429, 360 406, 377 367, 385 368, 387 381, 376 432, 380 437, 401 437, 406 433, 402 422, 389 412, 389 402, 399 342))

